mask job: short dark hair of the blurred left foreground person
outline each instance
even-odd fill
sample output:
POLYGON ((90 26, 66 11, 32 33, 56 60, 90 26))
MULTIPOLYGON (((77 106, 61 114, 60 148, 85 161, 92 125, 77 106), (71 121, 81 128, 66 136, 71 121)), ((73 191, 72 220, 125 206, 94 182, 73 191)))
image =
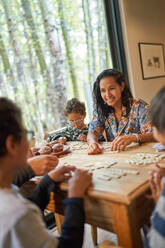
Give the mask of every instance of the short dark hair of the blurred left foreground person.
POLYGON ((21 139, 22 114, 11 100, 0 97, 0 156, 6 153, 6 140, 13 135, 16 141, 21 139))

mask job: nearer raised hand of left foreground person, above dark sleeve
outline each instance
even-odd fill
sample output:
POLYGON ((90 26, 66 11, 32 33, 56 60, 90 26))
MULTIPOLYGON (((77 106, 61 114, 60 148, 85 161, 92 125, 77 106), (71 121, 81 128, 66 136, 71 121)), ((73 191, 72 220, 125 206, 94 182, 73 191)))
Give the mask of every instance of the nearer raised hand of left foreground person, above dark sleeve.
POLYGON ((74 176, 69 180, 68 197, 84 197, 85 191, 91 183, 91 173, 76 169, 74 176))

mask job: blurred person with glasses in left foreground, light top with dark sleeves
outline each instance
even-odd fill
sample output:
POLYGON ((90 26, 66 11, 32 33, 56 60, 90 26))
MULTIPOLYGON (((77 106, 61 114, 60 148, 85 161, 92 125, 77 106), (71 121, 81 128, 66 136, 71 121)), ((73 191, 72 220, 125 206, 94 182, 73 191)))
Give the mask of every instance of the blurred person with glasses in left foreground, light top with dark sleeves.
POLYGON ((64 202, 65 220, 61 237, 57 239, 47 231, 39 208, 29 201, 35 192, 27 200, 12 185, 15 171, 27 164, 27 133, 20 109, 10 100, 0 98, 0 247, 82 247, 83 196, 92 182, 92 175, 64 166, 43 177, 44 188, 47 185, 50 191, 55 191, 59 182, 69 179, 68 198, 64 202))

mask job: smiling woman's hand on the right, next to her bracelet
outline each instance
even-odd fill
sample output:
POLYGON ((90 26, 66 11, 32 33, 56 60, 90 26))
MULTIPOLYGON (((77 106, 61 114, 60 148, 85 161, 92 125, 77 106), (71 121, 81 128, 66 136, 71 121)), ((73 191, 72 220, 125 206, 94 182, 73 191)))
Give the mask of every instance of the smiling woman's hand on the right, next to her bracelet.
POLYGON ((136 142, 135 135, 128 134, 119 136, 112 142, 111 151, 124 151, 126 146, 130 145, 132 142, 136 142))

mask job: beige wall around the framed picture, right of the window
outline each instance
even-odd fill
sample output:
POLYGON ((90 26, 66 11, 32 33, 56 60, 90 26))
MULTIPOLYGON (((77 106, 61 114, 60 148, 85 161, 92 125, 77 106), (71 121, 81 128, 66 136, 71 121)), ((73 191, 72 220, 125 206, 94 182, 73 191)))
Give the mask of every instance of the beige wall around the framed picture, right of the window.
POLYGON ((119 0, 119 7, 131 89, 150 102, 165 77, 143 80, 138 42, 165 45, 165 0, 119 0))

